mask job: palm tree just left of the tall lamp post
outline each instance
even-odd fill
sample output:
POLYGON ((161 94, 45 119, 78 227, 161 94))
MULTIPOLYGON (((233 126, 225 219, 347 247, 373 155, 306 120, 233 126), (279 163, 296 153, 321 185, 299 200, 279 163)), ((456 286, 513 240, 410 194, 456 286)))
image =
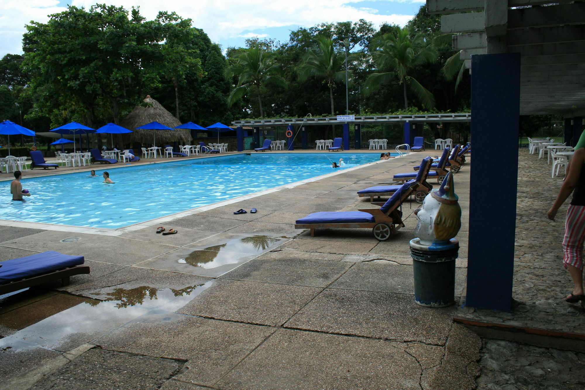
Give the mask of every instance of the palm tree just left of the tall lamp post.
MULTIPOLYGON (((301 81, 315 77, 325 80, 329 87, 331 98, 331 114, 335 115, 333 108, 333 85, 336 81, 345 80, 345 53, 335 51, 333 40, 327 36, 316 37, 317 45, 314 50, 309 49, 304 55, 301 65, 298 67, 298 75, 301 81)), ((353 61, 354 55, 350 54, 347 61, 353 61)))

